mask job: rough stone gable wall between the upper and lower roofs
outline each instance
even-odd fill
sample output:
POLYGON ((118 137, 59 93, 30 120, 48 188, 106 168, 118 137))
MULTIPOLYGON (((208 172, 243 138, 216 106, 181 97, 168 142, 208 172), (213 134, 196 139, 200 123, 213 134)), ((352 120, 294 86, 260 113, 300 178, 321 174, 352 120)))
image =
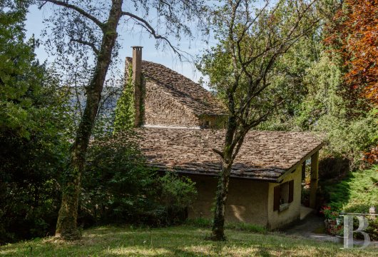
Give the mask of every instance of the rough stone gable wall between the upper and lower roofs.
POLYGON ((145 125, 198 127, 200 120, 151 81, 145 83, 145 125))

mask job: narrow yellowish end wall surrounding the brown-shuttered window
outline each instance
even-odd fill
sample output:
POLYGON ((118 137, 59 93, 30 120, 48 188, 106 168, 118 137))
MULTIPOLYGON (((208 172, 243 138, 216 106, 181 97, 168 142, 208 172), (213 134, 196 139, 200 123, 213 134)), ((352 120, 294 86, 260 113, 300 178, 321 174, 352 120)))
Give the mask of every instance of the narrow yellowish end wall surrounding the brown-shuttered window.
POLYGON ((282 183, 294 180, 294 194, 293 201, 290 203, 289 208, 284 211, 273 211, 274 204, 274 188, 279 185, 278 183, 269 183, 269 199, 268 199, 268 228, 275 229, 282 226, 286 226, 292 222, 300 220, 300 198, 301 198, 301 166, 299 165, 297 169, 288 174, 282 183))

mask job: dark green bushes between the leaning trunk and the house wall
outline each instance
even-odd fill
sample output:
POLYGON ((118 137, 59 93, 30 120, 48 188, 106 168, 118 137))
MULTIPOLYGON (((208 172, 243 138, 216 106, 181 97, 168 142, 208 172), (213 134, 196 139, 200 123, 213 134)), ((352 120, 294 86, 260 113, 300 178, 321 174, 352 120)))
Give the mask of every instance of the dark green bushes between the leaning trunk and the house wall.
POLYGON ((195 195, 194 183, 146 166, 131 132, 97 138, 88 151, 79 220, 93 223, 175 223, 195 195))

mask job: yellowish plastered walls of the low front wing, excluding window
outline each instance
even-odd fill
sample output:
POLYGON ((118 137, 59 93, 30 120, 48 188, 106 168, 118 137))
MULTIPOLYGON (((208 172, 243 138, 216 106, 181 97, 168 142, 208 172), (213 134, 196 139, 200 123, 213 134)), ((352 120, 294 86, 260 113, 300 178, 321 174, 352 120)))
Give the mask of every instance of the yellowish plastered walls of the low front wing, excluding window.
MULTIPOLYGON (((190 175, 196 183, 198 196, 188 208, 189 218, 213 218, 217 179, 213 176, 190 175)), ((270 229, 280 228, 300 220, 301 166, 285 176, 282 183, 294 180, 294 196, 289 208, 273 211, 274 187, 278 183, 231 178, 225 218, 231 222, 245 222, 270 229)))

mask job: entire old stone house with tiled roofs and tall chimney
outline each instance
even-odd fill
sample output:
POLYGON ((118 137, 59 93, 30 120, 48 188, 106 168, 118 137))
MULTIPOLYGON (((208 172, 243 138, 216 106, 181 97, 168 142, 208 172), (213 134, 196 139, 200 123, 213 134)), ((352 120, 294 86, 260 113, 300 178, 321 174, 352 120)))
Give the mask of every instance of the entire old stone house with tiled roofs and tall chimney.
MULTIPOLYGON (((136 103, 145 105, 143 112, 136 104, 141 110, 136 122, 141 128, 136 131, 149 165, 195 181, 198 198, 188 216, 213 218, 220 160, 212 148, 222 148, 224 141, 222 105, 190 79, 141 61, 141 47, 133 48, 133 59, 126 59, 126 64, 133 66, 136 103)), ((307 159, 311 159, 310 207, 315 208, 321 147, 322 141, 310 133, 247 133, 231 172, 226 221, 275 229, 299 220, 307 159)))

